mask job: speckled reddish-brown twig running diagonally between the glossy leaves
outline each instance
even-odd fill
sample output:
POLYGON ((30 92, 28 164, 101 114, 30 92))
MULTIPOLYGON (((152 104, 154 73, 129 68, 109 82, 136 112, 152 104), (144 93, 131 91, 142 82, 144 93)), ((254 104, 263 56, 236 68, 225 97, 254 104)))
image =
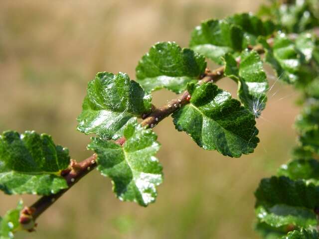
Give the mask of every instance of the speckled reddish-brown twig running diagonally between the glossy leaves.
MULTIPOLYGON (((319 35, 319 28, 315 28, 314 32, 319 35)), ((296 39, 296 34, 291 34, 291 39, 296 39)), ((269 38, 267 40, 268 44, 273 45, 273 38, 269 38)), ((259 54, 263 54, 264 48, 261 45, 257 45, 254 47, 248 47, 248 49, 255 50, 259 54)), ((240 59, 237 59, 238 64, 240 63, 240 59)), ((204 84, 207 82, 216 83, 218 80, 224 77, 225 67, 221 66, 216 70, 209 70, 208 68, 205 70, 205 73, 200 77, 199 84, 204 84)), ((170 114, 179 110, 179 108, 189 104, 190 95, 188 91, 185 91, 178 98, 171 100, 168 104, 161 106, 160 108, 156 108, 152 105, 152 112, 149 115, 143 115, 144 119, 141 122, 141 125, 148 127, 155 127, 162 119, 168 117, 170 114)), ((122 137, 116 141, 116 143, 123 145, 125 143, 125 138, 122 137)), ((77 163, 72 160, 70 163, 69 169, 66 169, 61 172, 61 176, 63 176, 68 184, 68 188, 61 190, 57 194, 52 194, 49 196, 43 196, 39 200, 37 200, 30 207, 25 207, 20 212, 19 222, 25 230, 33 231, 35 220, 43 213, 46 209, 48 209, 58 198, 60 198, 65 192, 67 192, 75 183, 77 183, 83 176, 92 171, 97 166, 96 163, 97 154, 93 154, 89 158, 77 163)))

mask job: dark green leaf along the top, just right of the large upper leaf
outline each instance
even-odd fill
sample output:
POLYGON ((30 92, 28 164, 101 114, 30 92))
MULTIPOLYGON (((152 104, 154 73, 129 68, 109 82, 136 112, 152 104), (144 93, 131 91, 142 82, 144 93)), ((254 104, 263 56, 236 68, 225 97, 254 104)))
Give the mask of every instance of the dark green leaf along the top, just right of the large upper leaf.
POLYGON ((248 44, 256 45, 258 36, 270 36, 276 29, 275 24, 268 20, 263 22, 251 13, 235 14, 227 18, 231 24, 240 26, 248 44))

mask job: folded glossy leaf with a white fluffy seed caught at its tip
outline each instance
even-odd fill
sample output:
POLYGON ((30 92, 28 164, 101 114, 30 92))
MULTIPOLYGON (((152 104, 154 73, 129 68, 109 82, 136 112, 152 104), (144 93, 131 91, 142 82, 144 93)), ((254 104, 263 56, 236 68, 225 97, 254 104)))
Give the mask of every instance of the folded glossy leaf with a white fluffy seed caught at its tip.
POLYGON ((261 111, 265 109, 266 93, 269 89, 259 54, 256 51, 243 51, 239 67, 230 54, 226 54, 224 59, 224 74, 237 81, 240 101, 256 117, 259 117, 261 111))

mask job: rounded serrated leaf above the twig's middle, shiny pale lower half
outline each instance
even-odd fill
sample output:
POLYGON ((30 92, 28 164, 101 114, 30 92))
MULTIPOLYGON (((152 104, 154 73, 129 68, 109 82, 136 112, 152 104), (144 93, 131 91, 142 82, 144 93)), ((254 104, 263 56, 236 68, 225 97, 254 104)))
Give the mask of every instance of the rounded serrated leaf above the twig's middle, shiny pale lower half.
POLYGON ((199 79, 205 68, 205 58, 193 50, 181 49, 175 42, 160 42, 139 61, 136 77, 146 91, 167 88, 181 93, 188 82, 199 79))

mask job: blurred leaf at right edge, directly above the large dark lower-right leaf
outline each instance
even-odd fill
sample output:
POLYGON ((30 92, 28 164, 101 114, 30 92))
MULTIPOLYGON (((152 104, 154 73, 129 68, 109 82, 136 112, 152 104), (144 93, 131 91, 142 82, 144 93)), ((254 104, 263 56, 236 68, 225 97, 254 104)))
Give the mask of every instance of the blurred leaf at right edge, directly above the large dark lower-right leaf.
POLYGON ((286 176, 293 180, 305 179, 319 185, 319 161, 315 159, 293 160, 288 164, 282 165, 278 169, 279 176, 286 176))

